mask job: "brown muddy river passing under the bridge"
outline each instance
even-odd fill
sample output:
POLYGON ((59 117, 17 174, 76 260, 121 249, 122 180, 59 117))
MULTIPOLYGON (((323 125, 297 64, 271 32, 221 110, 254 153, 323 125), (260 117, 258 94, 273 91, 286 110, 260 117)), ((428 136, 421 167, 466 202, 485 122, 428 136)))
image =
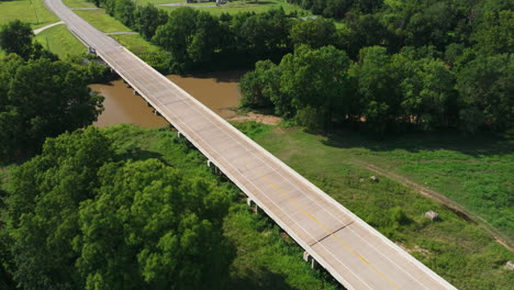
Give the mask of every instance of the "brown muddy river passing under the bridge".
MULTIPOLYGON (((231 108, 239 104, 241 92, 237 83, 243 74, 244 71, 219 71, 193 76, 169 75, 167 78, 220 116, 230 119, 236 114, 231 108)), ((164 118, 153 113, 153 109, 146 105, 142 97, 134 96, 133 90, 123 80, 89 87, 105 98, 104 111, 93 123, 96 126, 132 123, 145 127, 158 127, 168 124, 164 118)))

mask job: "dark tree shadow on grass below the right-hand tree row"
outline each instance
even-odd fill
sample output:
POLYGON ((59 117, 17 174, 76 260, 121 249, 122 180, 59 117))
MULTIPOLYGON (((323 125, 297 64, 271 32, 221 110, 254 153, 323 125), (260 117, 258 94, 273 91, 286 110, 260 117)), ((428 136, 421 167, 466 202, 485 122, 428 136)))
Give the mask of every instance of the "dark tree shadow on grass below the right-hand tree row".
POLYGON ((336 130, 323 134, 323 144, 337 148, 362 147, 372 152, 404 149, 410 153, 422 150, 455 150, 469 156, 506 155, 514 152, 514 144, 495 134, 462 135, 459 132, 418 132, 378 137, 349 130, 336 130))

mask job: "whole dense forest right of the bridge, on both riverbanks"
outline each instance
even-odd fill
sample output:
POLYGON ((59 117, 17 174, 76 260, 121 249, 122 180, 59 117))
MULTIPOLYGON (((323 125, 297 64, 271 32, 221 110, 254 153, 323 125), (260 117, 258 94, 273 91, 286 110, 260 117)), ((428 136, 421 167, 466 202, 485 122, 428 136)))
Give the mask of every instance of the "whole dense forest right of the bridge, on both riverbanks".
POLYGON ((242 105, 311 130, 474 134, 513 125, 513 1, 299 1, 321 14, 308 19, 99 4, 169 52, 147 57, 160 70, 255 67, 241 81, 242 105))

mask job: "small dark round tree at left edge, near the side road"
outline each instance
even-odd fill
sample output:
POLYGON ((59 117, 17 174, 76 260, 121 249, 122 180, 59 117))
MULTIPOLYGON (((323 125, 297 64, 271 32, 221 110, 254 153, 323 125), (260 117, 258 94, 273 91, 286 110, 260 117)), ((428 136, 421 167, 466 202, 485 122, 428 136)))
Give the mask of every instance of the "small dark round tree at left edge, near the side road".
POLYGON ((14 20, 3 25, 0 30, 0 47, 7 53, 14 53, 29 59, 34 47, 32 45, 32 32, 29 23, 14 20))

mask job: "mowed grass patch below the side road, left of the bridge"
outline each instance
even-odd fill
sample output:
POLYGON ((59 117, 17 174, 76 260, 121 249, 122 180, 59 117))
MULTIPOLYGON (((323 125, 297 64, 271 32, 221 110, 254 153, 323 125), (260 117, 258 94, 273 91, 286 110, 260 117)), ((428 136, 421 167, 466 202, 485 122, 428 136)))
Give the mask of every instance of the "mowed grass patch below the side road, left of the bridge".
POLYGON ((88 52, 86 46, 64 24, 42 31, 35 36, 35 40, 64 60, 69 60, 88 52))

